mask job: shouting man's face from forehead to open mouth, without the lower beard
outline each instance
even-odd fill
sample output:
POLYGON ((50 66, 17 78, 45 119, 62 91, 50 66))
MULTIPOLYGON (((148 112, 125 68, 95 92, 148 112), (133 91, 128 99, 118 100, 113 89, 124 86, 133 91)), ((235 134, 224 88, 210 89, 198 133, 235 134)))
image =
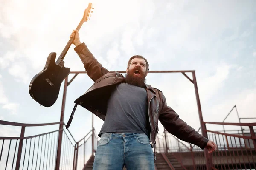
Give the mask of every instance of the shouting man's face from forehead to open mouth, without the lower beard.
POLYGON ((146 61, 141 58, 132 59, 126 73, 132 75, 133 77, 145 78, 148 74, 146 73, 146 61))

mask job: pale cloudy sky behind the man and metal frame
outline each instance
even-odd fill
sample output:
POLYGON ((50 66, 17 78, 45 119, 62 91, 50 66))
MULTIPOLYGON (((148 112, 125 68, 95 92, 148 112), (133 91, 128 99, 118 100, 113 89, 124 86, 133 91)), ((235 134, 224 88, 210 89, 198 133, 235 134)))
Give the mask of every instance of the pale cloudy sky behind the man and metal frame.
MULTIPOLYGON (((195 70, 205 121, 222 122, 234 105, 241 117, 256 117, 255 0, 1 0, 1 120, 59 121, 63 84, 55 105, 45 108, 30 97, 29 83, 44 68, 50 52, 61 54, 89 2, 94 13, 79 34, 105 68, 125 71, 129 57, 140 54, 148 59, 151 71, 195 70)), ((64 59, 65 66, 84 71, 74 47, 64 59)), ((181 119, 195 129, 200 127, 194 86, 186 77, 177 73, 146 78, 147 84, 163 91, 181 119)), ((86 74, 79 74, 70 84, 65 123, 73 101, 92 84, 86 74)), ((90 130, 91 118, 92 113, 77 108, 70 126, 76 140, 90 130)), ((238 122, 236 113, 226 122, 238 122)), ((102 124, 95 116, 97 133, 102 124)), ((25 135, 42 131, 49 131, 48 127, 27 128, 25 135)), ((18 127, 0 126, 0 136, 19 134, 18 127)))

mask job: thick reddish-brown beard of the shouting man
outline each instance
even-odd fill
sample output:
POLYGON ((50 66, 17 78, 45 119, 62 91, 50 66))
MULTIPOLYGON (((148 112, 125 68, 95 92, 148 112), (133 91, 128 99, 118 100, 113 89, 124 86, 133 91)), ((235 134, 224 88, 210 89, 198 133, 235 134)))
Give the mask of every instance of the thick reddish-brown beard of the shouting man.
POLYGON ((125 82, 135 85, 141 88, 145 88, 145 82, 146 82, 146 73, 143 73, 143 71, 140 68, 134 68, 133 70, 128 70, 128 73, 125 74, 125 82), (139 70, 140 75, 134 76, 134 71, 139 70))

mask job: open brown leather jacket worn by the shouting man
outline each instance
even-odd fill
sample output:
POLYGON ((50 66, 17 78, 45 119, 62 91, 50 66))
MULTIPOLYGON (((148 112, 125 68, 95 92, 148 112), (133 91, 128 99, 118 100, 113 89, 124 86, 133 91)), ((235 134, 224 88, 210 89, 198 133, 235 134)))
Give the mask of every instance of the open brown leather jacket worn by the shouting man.
MULTIPOLYGON (((78 45, 74 50, 83 62, 88 76, 94 81, 93 85, 75 100, 75 103, 91 111, 104 121, 107 101, 111 91, 116 85, 124 82, 125 78, 116 71, 108 71, 102 67, 84 43, 78 45)), ((166 105, 166 98, 162 91, 152 88, 151 85, 146 85, 146 91, 148 116, 151 127, 151 146, 155 146, 159 120, 169 133, 172 133, 183 141, 195 144, 201 149, 204 149, 208 139, 187 125, 171 107, 166 105)))

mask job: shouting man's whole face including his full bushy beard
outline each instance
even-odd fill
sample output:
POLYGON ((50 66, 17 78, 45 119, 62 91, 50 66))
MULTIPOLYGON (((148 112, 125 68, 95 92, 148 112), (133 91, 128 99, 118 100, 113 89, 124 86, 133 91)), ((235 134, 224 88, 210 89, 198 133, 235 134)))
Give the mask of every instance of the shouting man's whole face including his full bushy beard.
POLYGON ((145 77, 148 73, 146 73, 146 61, 144 59, 132 59, 126 73, 125 80, 127 83, 139 87, 145 87, 145 77))

